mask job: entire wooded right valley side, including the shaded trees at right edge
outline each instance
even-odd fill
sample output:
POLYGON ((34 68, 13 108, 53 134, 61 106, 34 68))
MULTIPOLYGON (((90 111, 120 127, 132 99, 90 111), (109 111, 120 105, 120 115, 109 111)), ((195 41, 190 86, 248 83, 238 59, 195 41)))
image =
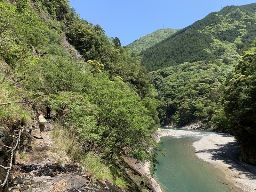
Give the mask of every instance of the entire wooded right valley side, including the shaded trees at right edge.
POLYGON ((229 132, 254 165, 255 10, 256 3, 224 7, 141 52, 158 92, 160 123, 200 121, 229 132))

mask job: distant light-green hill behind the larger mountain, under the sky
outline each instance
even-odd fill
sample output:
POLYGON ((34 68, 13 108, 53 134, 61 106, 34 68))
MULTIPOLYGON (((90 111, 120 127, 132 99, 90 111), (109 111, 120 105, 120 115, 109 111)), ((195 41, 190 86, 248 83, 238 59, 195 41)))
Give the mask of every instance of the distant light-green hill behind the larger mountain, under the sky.
POLYGON ((165 38, 176 33, 180 29, 164 28, 158 29, 153 33, 140 37, 139 39, 133 41, 131 44, 125 47, 135 55, 139 55, 141 51, 148 49, 149 47, 159 43, 165 38))

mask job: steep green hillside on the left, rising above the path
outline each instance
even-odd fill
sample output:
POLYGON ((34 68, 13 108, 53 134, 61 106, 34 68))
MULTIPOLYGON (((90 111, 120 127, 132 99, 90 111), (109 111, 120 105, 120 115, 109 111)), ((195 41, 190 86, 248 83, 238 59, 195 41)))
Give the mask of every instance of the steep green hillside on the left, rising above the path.
MULTIPOLYGON (((68 0, 0 0, 0 61, 1 103, 50 105, 73 162, 97 166, 91 179, 134 187, 118 171, 124 154, 151 162, 153 174, 157 159, 148 149, 160 145, 151 138, 159 120, 150 75, 68 0)), ((10 132, 17 119, 28 124, 38 115, 32 111, 1 106, 1 130, 10 132)))

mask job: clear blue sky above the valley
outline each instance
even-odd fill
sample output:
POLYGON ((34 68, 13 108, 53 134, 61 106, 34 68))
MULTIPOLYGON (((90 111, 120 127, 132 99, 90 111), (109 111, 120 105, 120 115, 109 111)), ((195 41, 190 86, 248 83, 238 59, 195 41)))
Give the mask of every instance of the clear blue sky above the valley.
POLYGON ((80 17, 99 24, 123 46, 160 28, 184 28, 227 5, 256 0, 70 0, 80 17))

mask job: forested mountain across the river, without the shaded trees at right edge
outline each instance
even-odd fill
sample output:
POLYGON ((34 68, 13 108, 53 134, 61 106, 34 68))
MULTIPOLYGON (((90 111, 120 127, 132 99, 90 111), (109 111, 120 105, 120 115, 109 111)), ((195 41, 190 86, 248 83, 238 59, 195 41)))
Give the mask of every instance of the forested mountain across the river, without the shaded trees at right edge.
POLYGON ((151 74, 162 101, 158 107, 162 124, 204 119, 209 126, 222 126, 216 119, 221 113, 221 92, 216 90, 240 55, 252 47, 255 9, 256 3, 224 7, 145 51, 142 65, 158 69, 151 74))

